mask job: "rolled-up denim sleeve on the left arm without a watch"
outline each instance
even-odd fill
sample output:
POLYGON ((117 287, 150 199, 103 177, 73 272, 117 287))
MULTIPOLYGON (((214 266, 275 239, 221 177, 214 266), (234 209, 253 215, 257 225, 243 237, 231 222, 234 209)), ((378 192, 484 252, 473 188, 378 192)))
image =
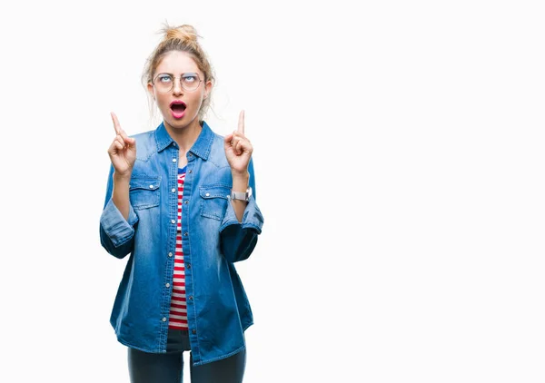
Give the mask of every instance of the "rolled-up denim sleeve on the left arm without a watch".
POLYGON ((129 205, 129 217, 125 220, 121 211, 115 206, 112 201, 113 176, 114 166, 110 165, 104 210, 100 217, 100 242, 106 251, 122 259, 134 248, 134 231, 138 216, 134 212, 133 205, 129 205))

